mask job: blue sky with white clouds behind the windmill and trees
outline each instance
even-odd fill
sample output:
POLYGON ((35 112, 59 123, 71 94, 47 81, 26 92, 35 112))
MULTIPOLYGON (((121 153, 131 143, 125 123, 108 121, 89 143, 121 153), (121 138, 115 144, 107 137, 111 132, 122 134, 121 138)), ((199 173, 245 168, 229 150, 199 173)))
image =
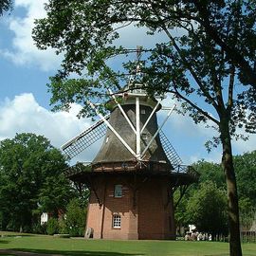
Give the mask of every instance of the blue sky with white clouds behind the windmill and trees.
MULTIPOLYGON (((52 113, 47 93, 48 77, 55 74, 61 57, 53 50, 40 51, 34 46, 31 28, 35 18, 44 17, 46 0, 15 0, 12 12, 0 17, 0 139, 14 137, 16 133, 32 132, 44 135, 60 147, 92 124, 90 119, 77 119, 80 106, 73 105, 69 113, 52 113)), ((160 35, 159 35, 160 37, 160 35)), ((157 41, 158 39, 156 39, 157 41)), ((161 40, 164 40, 161 38, 161 40)), ((156 42, 155 41, 155 42, 156 42)), ((127 28, 120 39, 126 46, 149 46, 155 43, 145 39, 140 32, 127 28)), ((172 102, 165 101, 166 105, 172 102)), ((161 117, 164 113, 160 114, 161 117)), ((191 119, 173 115, 164 128, 184 163, 201 158, 219 162, 220 149, 207 154, 204 143, 213 132, 203 125, 195 125, 191 119)), ((79 160, 92 160, 101 141, 79 160)), ((234 154, 255 150, 256 137, 247 142, 234 141, 234 154)))

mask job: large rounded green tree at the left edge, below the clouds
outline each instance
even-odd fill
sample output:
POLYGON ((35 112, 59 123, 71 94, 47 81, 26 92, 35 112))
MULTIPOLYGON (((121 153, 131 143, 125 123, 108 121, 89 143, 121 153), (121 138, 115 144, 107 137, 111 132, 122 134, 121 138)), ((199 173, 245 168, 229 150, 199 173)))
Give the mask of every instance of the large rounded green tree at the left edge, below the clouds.
MULTIPOLYGON (((64 208, 71 187, 62 179, 66 168, 64 155, 46 137, 17 134, 0 142, 0 211, 2 228, 28 231, 33 213, 40 204, 44 210, 64 208), (53 184, 49 184, 49 181, 53 184), (51 186, 51 191, 46 187, 51 186), (52 187, 55 186, 53 189, 52 187), (56 195, 58 191, 58 195, 56 195), (46 194, 47 192, 47 194, 46 194), (55 198, 52 193, 55 192, 55 198), (47 205, 51 199, 53 205, 47 205)), ((41 207, 42 207, 41 206, 41 207)), ((41 211, 42 212, 42 211, 41 211)))

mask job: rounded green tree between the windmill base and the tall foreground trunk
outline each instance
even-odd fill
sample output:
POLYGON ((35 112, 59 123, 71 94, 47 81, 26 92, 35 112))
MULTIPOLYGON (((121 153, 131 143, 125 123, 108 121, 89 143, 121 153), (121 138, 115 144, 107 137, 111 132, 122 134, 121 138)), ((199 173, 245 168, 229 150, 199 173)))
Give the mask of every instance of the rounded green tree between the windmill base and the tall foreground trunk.
POLYGON ((199 231, 212 235, 228 233, 227 197, 213 182, 200 184, 190 198, 186 214, 199 231))

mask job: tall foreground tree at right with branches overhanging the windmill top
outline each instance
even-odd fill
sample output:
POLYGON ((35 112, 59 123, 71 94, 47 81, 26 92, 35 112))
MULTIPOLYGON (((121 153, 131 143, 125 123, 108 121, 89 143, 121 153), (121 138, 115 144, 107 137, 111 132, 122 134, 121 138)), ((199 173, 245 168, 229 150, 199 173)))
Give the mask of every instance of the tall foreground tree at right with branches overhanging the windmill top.
POLYGON ((76 101, 81 115, 92 114, 86 104, 105 103, 104 88, 121 90, 126 70, 114 70, 107 60, 129 49, 115 46, 119 27, 146 27, 169 42, 145 49, 140 84, 152 95, 172 93, 196 122, 213 126, 217 135, 208 146, 222 145, 222 166, 229 198, 230 255, 242 255, 232 137, 237 128, 255 132, 255 1, 56 1, 47 17, 36 21, 33 37, 41 49, 64 52, 62 69, 51 79, 51 103, 68 109, 76 101), (174 28, 179 33, 174 35, 174 28), (86 69, 84 69, 86 67, 86 69), (85 71, 85 73, 84 73, 85 71), (69 80, 76 72, 81 79, 69 80))

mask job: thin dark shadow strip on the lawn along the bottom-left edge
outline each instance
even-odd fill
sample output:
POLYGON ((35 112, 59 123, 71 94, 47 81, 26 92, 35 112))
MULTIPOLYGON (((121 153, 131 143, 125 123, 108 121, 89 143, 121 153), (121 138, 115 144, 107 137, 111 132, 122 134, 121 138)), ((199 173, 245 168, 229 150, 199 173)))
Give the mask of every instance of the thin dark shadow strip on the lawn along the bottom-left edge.
POLYGON ((15 248, 15 251, 26 252, 26 255, 69 255, 69 256, 143 256, 141 253, 122 253, 116 251, 88 251, 88 250, 47 250, 47 249, 24 249, 15 248))

